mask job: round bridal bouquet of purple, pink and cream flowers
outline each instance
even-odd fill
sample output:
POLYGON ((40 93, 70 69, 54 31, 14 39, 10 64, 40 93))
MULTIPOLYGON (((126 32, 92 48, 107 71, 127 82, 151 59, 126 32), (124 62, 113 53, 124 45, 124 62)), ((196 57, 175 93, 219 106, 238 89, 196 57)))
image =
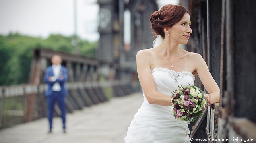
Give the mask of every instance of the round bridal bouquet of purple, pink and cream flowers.
POLYGON ((179 89, 171 95, 173 103, 173 116, 181 121, 194 122, 195 118, 202 116, 202 108, 206 105, 206 97, 198 87, 194 85, 178 86, 179 89))

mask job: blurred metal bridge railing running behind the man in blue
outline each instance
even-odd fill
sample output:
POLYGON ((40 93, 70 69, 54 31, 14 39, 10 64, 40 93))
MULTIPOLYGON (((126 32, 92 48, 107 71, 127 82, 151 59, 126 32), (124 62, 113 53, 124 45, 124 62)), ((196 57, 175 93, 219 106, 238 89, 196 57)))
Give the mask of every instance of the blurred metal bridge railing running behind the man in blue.
MULTIPOLYGON (((46 88, 45 84, 0 86, 0 128, 28 122, 27 118, 35 120, 45 117, 46 88), (34 102, 32 107, 27 105, 31 102, 34 102), (30 112, 33 114, 29 115, 30 112)), ((82 110, 86 106, 106 102, 111 97, 125 96, 136 91, 128 81, 69 82, 66 83, 66 88, 67 112, 82 110)), ((60 116, 61 112, 57 105, 54 110, 55 116, 60 116)))

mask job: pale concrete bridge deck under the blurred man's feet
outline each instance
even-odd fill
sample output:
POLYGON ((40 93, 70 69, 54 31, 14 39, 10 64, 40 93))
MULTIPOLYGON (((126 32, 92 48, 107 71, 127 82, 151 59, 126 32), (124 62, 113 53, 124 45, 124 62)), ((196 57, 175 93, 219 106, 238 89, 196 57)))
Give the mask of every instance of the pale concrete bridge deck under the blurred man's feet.
POLYGON ((69 113, 66 133, 58 117, 53 120, 52 133, 47 133, 47 118, 2 129, 0 143, 124 143, 142 98, 142 93, 133 93, 69 113))

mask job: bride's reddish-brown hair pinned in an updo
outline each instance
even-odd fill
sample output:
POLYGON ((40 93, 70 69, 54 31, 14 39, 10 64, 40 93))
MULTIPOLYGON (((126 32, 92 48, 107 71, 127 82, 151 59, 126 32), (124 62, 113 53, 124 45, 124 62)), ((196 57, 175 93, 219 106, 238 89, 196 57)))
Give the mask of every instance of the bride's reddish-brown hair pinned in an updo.
POLYGON ((167 4, 150 16, 151 27, 156 35, 165 38, 164 27, 171 28, 179 22, 188 10, 180 5, 167 4))

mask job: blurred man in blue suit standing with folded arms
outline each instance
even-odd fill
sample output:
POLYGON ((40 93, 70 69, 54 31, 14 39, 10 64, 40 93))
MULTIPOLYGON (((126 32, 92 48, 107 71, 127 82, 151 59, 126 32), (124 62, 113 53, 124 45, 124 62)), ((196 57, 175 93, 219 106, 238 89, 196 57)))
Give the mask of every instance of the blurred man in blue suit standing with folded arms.
POLYGON ((61 111, 61 118, 63 122, 63 132, 66 133, 66 104, 65 97, 67 90, 65 88, 65 82, 68 79, 67 69, 61 66, 62 58, 60 55, 52 56, 52 66, 47 67, 45 72, 45 83, 48 85, 48 89, 45 91, 47 97, 47 118, 49 120, 50 130, 52 132, 52 118, 54 113, 54 104, 58 101, 58 106, 61 111))

